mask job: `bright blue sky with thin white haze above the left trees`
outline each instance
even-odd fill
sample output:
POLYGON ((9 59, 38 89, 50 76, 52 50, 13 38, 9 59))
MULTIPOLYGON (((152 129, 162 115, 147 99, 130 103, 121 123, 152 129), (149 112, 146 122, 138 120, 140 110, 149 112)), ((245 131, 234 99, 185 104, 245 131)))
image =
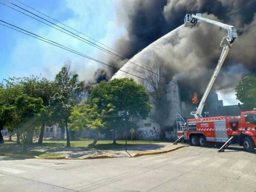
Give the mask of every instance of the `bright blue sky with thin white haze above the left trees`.
MULTIPOLYGON (((33 11, 15 0, 10 1, 29 11, 33 11)), ((109 46, 112 46, 115 39, 124 34, 124 27, 118 24, 120 22, 116 22, 114 0, 20 1, 109 46)), ((0 2, 19 9, 4 0, 0 0, 0 2)), ((49 18, 46 19, 49 20, 49 18)), ((106 54, 91 45, 85 44, 2 4, 0 4, 0 20, 107 62, 106 54)), ((55 21, 52 22, 60 25, 55 21)), ((92 72, 101 67, 101 64, 97 64, 94 61, 4 26, 0 26, 0 43, 0 79, 8 76, 39 76, 40 74, 43 77, 52 79, 66 60, 72 61, 72 69, 82 79, 89 79, 93 74, 92 72)))

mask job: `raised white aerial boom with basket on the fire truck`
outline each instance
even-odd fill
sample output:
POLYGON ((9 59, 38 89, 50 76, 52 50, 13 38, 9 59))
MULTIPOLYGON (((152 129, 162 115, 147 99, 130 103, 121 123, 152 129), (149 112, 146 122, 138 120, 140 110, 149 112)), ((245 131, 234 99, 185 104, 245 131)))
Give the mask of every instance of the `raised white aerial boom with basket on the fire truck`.
POLYGON ((194 115, 195 118, 200 118, 202 117, 202 111, 204 108, 204 103, 205 100, 212 88, 212 85, 216 79, 216 77, 218 76, 219 72, 220 72, 220 68, 224 62, 224 60, 227 57, 227 54, 231 48, 231 44, 234 42, 234 40, 237 37, 236 34, 236 28, 234 26, 231 25, 226 25, 224 23, 220 23, 218 21, 214 21, 214 20, 210 20, 210 19, 206 19, 204 17, 201 16, 201 13, 197 13, 196 15, 194 14, 186 14, 185 18, 184 18, 184 25, 185 27, 190 27, 190 28, 194 28, 194 27, 198 27, 201 21, 205 21, 207 23, 211 23, 213 25, 219 26, 221 28, 224 28, 228 31, 228 36, 225 36, 222 38, 221 42, 220 42, 220 47, 223 47, 221 55, 220 55, 220 60, 214 70, 214 73, 212 74, 212 78, 209 82, 209 84, 206 87, 206 90, 204 92, 204 95, 199 103, 199 106, 197 107, 196 111, 192 111, 190 114, 194 115))

